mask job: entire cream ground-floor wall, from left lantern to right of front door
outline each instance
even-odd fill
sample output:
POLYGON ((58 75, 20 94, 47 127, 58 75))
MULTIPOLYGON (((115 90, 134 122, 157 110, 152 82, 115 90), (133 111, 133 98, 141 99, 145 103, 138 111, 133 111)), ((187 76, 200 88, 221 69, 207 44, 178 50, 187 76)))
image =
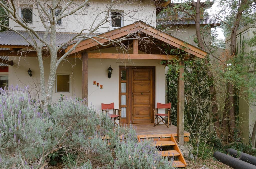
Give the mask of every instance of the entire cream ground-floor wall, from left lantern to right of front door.
MULTIPOLYGON (((14 61, 14 66, 9 66, 9 85, 23 87, 30 86, 31 96, 38 100, 35 84, 39 84, 39 66, 36 57, 10 57, 14 61), (28 69, 32 70, 33 76, 27 73, 28 69)), ((70 93, 62 93, 65 96, 82 97, 82 61, 78 58, 68 58, 57 69, 57 73, 71 73, 70 93)), ((49 76, 49 59, 44 58, 45 78, 49 76)), ((155 103, 165 103, 165 67, 160 60, 145 59, 88 59, 88 106, 95 106, 101 109, 101 103, 114 102, 115 107, 119 106, 119 66, 153 66, 155 67, 155 103), (113 68, 111 78, 108 78, 107 69, 113 68), (97 81, 103 85, 103 88, 93 85, 97 81)), ((39 85, 40 86, 40 85, 39 85)), ((39 91, 40 92, 40 91, 39 91)), ((61 93, 53 92, 52 102, 59 99, 61 93)), ((155 104, 156 105, 156 104, 155 104)))

